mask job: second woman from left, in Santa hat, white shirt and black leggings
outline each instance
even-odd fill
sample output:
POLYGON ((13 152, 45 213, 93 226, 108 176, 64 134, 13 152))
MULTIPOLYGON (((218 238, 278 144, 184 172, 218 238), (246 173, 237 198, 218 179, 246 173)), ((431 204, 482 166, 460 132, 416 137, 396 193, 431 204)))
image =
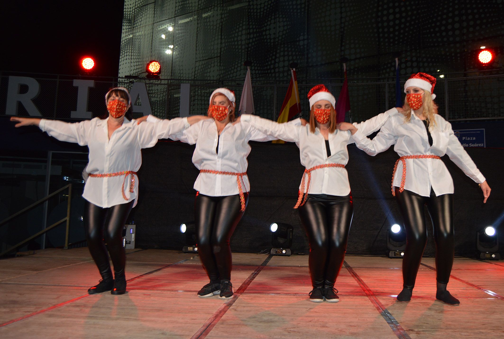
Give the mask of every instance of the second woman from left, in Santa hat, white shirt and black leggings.
MULTIPOLYGON (((196 144, 193 163, 200 170, 194 184, 196 237, 201 262, 210 278, 198 292, 200 297, 233 296, 229 239, 248 202, 248 141, 275 139, 248 123, 233 125, 234 113, 234 92, 219 88, 210 96, 208 116, 213 119, 200 121, 172 137, 196 144)), ((162 120, 149 116, 147 121, 162 120)))

